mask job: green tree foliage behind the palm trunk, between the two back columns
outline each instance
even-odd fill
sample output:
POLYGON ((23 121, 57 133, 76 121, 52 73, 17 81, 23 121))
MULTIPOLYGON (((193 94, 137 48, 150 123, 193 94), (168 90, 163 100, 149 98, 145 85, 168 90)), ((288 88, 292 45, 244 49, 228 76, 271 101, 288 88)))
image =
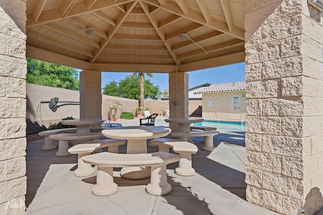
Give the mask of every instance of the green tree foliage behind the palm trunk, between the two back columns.
MULTIPOLYGON (((119 83, 116 81, 109 82, 103 87, 103 95, 117 96, 128 99, 140 99, 140 87, 139 87, 140 76, 130 78, 127 76, 125 79, 120 80, 119 83)), ((159 87, 153 86, 149 79, 144 81, 144 97, 158 99, 160 95, 159 87)))

